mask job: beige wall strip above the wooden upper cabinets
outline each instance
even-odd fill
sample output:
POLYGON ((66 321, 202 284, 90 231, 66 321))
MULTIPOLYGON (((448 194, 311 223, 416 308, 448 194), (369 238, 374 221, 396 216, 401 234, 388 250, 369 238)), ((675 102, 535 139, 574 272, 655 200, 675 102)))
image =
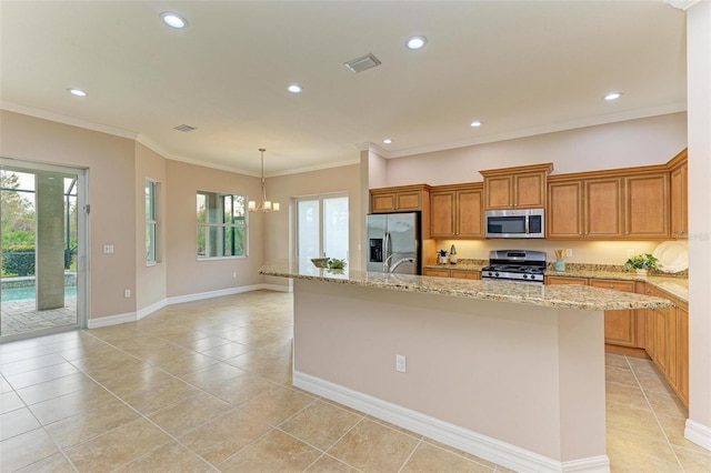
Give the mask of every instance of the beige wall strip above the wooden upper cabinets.
POLYGON ((562 174, 660 164, 685 147, 687 114, 672 113, 390 159, 387 177, 388 185, 481 182, 480 170, 544 162, 562 174))

